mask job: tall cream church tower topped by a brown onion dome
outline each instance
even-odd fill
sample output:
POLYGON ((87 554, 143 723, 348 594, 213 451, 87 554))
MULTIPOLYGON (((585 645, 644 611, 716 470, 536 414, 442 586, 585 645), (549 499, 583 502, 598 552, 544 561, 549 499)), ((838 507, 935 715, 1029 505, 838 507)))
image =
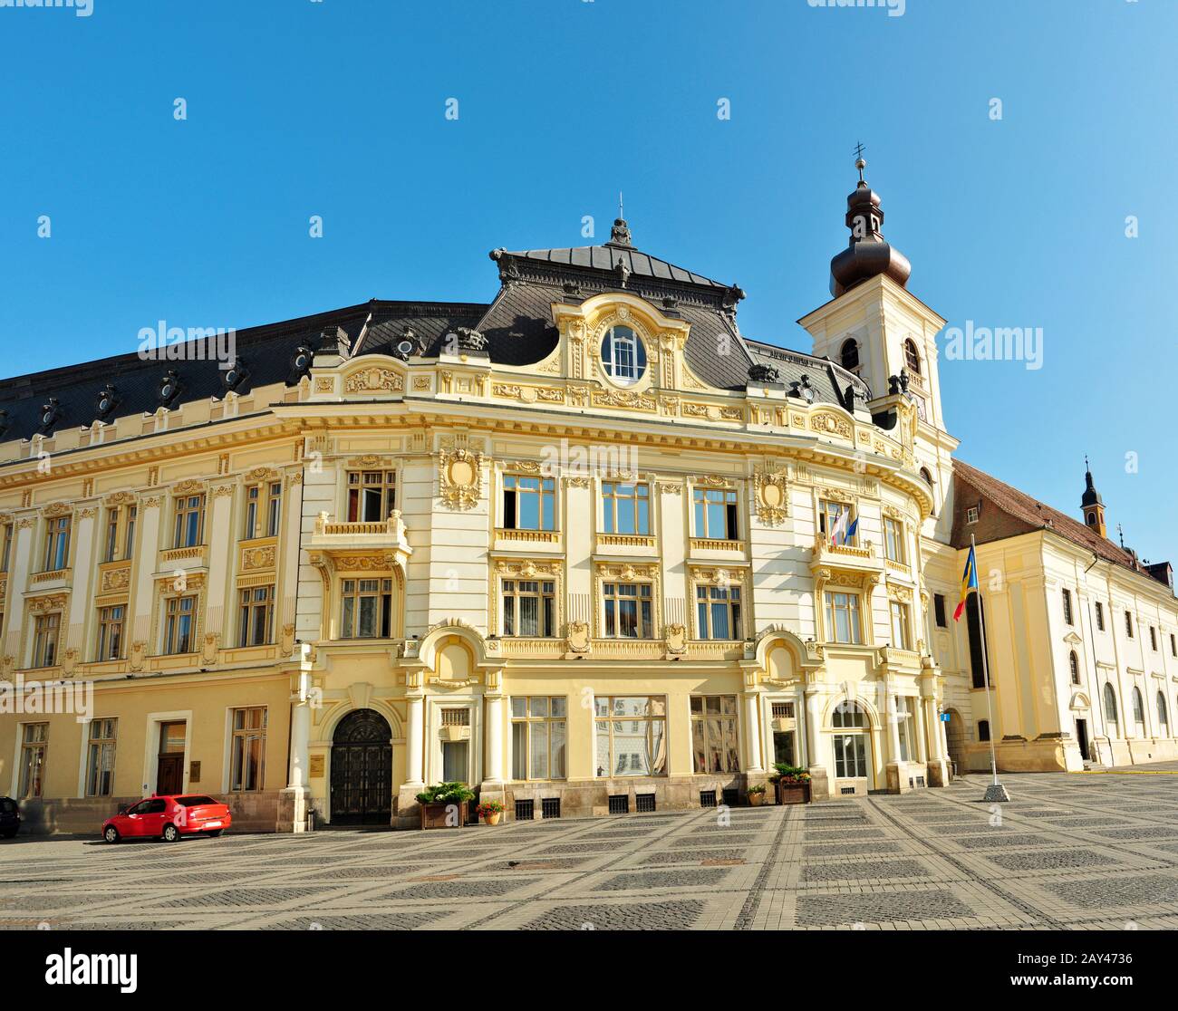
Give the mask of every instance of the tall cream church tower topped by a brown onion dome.
MULTIPOLYGON (((862 154, 862 148, 858 152, 862 154)), ((847 247, 830 260, 829 302, 798 322, 814 339, 814 353, 863 379, 867 408, 888 427, 900 402, 916 412, 916 469, 933 488, 940 510, 952 484, 954 440, 945 430, 938 377, 937 335, 945 321, 908 291, 912 264, 884 238, 884 207, 867 185, 867 163, 855 161, 859 184, 847 197, 847 247)))

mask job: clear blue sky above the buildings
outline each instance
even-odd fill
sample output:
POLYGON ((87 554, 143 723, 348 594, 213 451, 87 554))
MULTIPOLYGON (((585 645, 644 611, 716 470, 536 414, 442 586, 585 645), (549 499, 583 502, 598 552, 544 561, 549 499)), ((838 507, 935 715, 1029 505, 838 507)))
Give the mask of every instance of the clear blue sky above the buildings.
POLYGON ((1178 561, 1178 2, 93 2, 0 8, 6 375, 158 319, 490 299, 488 250, 584 214, 602 242, 618 189, 641 249, 806 349, 862 140, 911 290, 1044 329, 1038 371, 942 356, 960 456, 1078 514, 1088 452, 1126 542, 1178 561))

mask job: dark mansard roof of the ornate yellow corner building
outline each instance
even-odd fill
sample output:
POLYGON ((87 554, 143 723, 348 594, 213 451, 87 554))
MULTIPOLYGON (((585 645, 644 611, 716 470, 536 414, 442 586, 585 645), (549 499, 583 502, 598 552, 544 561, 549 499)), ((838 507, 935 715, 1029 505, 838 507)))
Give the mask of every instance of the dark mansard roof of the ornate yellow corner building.
MULTIPOLYGON (((860 379, 827 359, 770 344, 747 341, 736 324, 736 305, 744 292, 694 271, 675 266, 630 244, 629 229, 615 222, 610 242, 574 249, 495 250, 501 288, 492 302, 388 302, 359 305, 238 330, 237 352, 246 372, 238 392, 279 382, 297 383, 310 356, 325 344, 348 357, 403 353, 437 357, 446 335, 477 331, 483 351, 501 365, 529 365, 552 352, 558 333, 555 303, 580 303, 607 291, 626 291, 690 324, 687 361, 706 383, 721 390, 780 382, 787 392, 815 402, 848 405, 847 389, 856 388, 861 403, 869 396, 860 379), (298 359, 298 361, 297 361, 298 359), (750 370, 753 376, 750 377, 750 370)), ((153 361, 131 352, 81 365, 52 369, 0 381, 0 441, 51 435, 152 412, 161 405, 160 385, 168 369, 179 379, 172 407, 223 396, 226 370, 214 361, 153 361), (99 399, 114 386, 115 405, 101 416, 99 399), (52 399, 51 399, 52 398, 52 399), (44 424, 52 404, 52 421, 44 424)))

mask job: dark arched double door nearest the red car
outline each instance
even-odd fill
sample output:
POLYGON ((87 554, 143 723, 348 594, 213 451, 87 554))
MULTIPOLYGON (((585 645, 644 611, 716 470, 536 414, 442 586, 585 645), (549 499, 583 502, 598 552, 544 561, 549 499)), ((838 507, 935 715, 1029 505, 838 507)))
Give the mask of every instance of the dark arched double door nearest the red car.
POLYGON ((392 820, 392 731, 376 709, 339 721, 331 741, 331 824, 388 825, 392 820))

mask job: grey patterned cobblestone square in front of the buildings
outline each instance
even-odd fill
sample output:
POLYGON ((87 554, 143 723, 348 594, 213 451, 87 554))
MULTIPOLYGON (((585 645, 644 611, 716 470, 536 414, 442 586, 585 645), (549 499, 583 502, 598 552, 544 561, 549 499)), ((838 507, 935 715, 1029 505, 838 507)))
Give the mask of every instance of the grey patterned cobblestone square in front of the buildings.
POLYGON ((1178 929, 1178 775, 176 845, 0 842, 8 930, 1178 929))

